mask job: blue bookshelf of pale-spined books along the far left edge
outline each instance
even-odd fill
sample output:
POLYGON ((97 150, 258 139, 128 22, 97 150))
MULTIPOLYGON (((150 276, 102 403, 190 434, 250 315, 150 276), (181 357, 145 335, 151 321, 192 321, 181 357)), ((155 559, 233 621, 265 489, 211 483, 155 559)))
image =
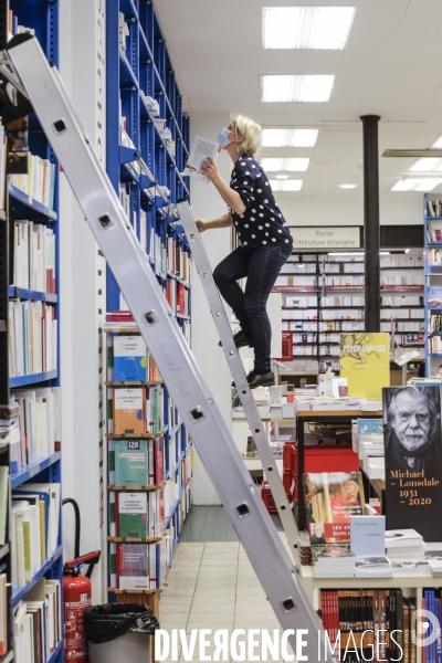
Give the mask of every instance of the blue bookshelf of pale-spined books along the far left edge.
MULTIPOLYGON (((24 27, 34 31, 48 60, 57 64, 57 0, 3 2, 1 48, 24 27)), ((9 419, 4 443, 0 440, 0 464, 9 469, 7 541, 0 546, 0 568, 11 586, 8 610, 14 619, 13 648, 1 661, 22 663, 21 638, 34 633, 46 648, 48 661, 61 663, 59 176, 55 156, 34 115, 29 116, 28 136, 28 175, 8 177, 0 223, 0 352, 8 359, 0 362, 0 409, 9 419), (57 606, 59 617, 51 642, 44 640, 36 621, 30 623, 32 609, 28 608, 28 601, 38 600, 49 588, 55 592, 51 610, 57 606)))

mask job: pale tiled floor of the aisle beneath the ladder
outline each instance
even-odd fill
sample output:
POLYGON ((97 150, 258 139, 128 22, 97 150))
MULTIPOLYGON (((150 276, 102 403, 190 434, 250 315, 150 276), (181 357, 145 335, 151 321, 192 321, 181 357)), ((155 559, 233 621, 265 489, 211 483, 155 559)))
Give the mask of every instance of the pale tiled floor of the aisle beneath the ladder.
MULTIPOLYGON (((218 507, 209 507, 213 508, 218 507)), ((204 532, 212 537, 220 536, 221 532, 229 536, 229 530, 213 527, 213 520, 221 524, 223 517, 210 511, 202 513, 192 533, 188 529, 188 538, 190 534, 197 537, 198 533, 202 537, 204 532)), ((183 535, 190 524, 189 519, 183 535)), ((281 631, 280 622, 238 540, 180 543, 166 582, 160 599, 160 627, 169 633, 172 629, 185 629, 187 633, 192 629, 211 629, 212 632, 220 629, 230 632, 234 629, 281 631)), ((214 645, 208 648, 207 654, 212 654, 213 650, 214 645)), ((180 646, 179 652, 179 660, 185 661, 180 646)), ((199 660, 198 641, 192 660, 199 660)))

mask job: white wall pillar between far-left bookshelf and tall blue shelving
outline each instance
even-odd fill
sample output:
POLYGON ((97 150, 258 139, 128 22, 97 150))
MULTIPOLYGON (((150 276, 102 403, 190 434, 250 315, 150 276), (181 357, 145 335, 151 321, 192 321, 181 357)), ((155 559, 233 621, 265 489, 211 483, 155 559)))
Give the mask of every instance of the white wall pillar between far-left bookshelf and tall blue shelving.
MULTIPOLYGON (((61 74, 98 156, 104 158, 104 1, 65 0, 60 11, 61 74)), ((81 552, 102 548, 103 413, 99 326, 105 313, 104 261, 65 177, 61 176, 60 309, 63 497, 82 513, 81 552)), ((74 556, 72 507, 63 512, 64 557, 74 556)), ((104 556, 105 557, 105 556, 104 556)), ((106 585, 93 576, 93 602, 106 585)))

